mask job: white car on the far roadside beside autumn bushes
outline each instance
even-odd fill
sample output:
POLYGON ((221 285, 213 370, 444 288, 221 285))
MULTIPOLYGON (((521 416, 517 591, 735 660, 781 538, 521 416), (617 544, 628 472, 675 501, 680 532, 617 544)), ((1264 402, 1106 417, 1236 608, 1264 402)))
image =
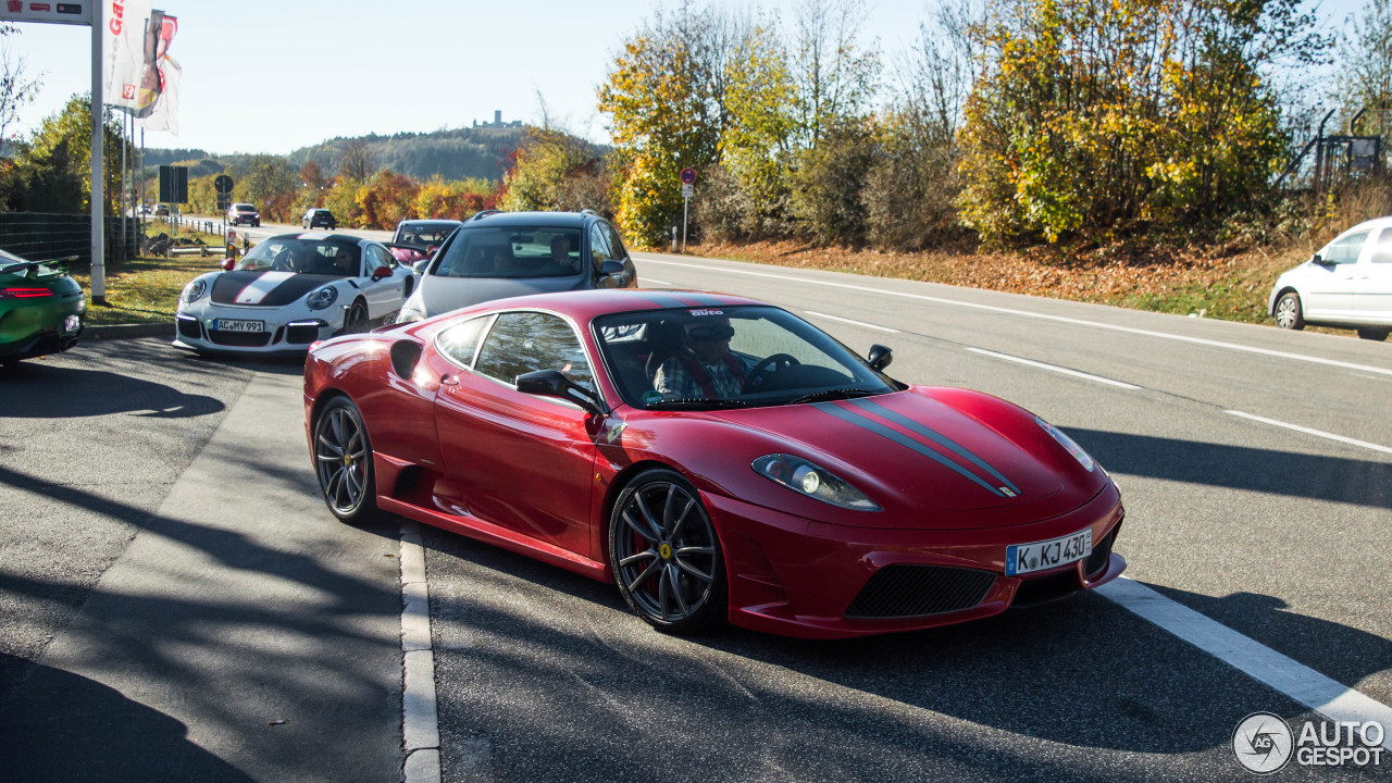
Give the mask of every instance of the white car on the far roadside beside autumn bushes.
POLYGON ((1339 326, 1364 340, 1392 333, 1392 217, 1359 223, 1276 279, 1267 312, 1282 329, 1339 326))

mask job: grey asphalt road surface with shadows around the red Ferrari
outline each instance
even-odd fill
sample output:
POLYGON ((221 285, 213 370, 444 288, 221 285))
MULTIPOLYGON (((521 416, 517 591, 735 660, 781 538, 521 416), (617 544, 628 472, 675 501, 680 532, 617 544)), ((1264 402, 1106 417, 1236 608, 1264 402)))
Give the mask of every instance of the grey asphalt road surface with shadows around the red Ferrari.
MULTIPOLYGON (((1392 704, 1392 343, 638 266, 887 344, 902 380, 1033 410, 1121 485, 1129 577, 1392 704)), ((142 340, 0 376, 0 780, 400 779, 395 531, 315 497, 295 372, 142 340)), ((873 639, 678 639, 610 587, 423 541, 444 780, 1247 780, 1246 715, 1317 716, 1111 594, 873 639)))

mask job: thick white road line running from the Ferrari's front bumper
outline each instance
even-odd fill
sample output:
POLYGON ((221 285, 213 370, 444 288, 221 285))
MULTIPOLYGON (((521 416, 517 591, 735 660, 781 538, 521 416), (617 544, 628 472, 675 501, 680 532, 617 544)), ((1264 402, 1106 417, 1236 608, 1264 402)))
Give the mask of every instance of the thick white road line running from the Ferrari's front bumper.
MULTIPOLYGON (((1237 631, 1122 577, 1097 592, 1208 655, 1308 706, 1329 720, 1377 720, 1392 727, 1392 708, 1349 688, 1308 666, 1253 641, 1237 631)), ((1382 747, 1392 750, 1392 731, 1382 747)))

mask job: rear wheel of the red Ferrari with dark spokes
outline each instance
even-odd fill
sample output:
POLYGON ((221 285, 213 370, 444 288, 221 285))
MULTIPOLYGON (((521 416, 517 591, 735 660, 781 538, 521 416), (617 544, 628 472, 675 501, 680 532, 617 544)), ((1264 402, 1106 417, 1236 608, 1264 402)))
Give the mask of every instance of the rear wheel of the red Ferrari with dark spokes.
POLYGON ((381 517, 372 467, 372 440, 362 412, 348 397, 334 397, 315 418, 315 475, 324 504, 345 522, 381 517))

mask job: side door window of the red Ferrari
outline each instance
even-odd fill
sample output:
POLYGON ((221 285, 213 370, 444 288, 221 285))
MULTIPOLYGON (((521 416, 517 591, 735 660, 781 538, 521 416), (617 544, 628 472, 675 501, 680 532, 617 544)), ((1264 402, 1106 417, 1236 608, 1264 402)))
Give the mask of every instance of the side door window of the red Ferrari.
POLYGON ((594 373, 575 330, 544 312, 500 315, 483 340, 473 369, 509 385, 528 372, 558 369, 575 383, 594 389, 594 373))

